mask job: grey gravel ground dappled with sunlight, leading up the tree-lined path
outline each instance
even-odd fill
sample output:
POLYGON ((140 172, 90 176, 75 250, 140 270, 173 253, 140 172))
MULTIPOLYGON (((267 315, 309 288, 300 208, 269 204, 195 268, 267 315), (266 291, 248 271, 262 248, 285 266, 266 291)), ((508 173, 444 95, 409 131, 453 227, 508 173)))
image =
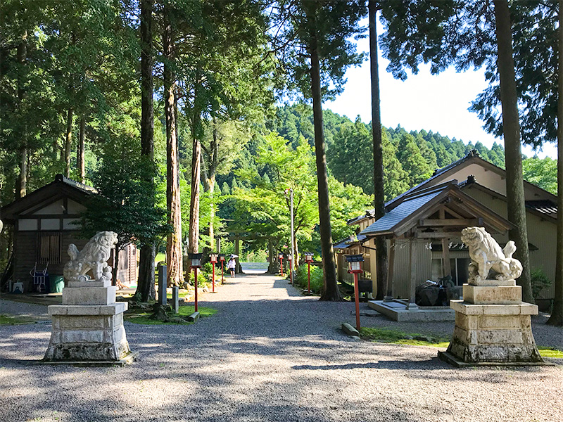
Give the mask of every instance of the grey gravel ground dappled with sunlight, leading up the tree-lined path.
MULTIPOLYGON (((42 357, 50 324, 0 326, 0 421, 563 420, 563 366, 453 369, 433 347, 352 340, 339 326, 354 324, 353 304, 318 302, 271 276, 227 278, 202 299, 219 312, 191 326, 126 323, 141 354, 125 368, 25 364, 42 357)), ((362 324, 453 330, 383 316, 362 324)), ((563 343, 540 319, 534 333, 563 343)))

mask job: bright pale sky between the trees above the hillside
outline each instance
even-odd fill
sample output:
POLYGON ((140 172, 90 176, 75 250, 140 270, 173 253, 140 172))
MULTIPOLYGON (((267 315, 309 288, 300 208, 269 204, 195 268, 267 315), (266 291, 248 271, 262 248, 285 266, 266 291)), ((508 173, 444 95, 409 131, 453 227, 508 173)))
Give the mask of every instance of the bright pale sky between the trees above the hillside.
MULTIPOLYGON (((378 25, 378 32, 382 28, 378 25)), ((368 39, 358 41, 358 51, 369 51, 368 39)), ((417 75, 409 74, 405 82, 394 79, 386 71, 388 61, 381 58, 379 50, 379 79, 381 91, 381 123, 385 127, 401 127, 411 130, 424 129, 438 132, 450 139, 461 139, 464 143, 481 141, 491 148, 493 142, 504 145, 502 138, 486 133, 476 113, 469 110, 471 102, 486 87, 483 70, 457 73, 453 68, 439 75, 431 75, 429 66, 422 66, 417 75)), ((363 122, 372 120, 371 82, 369 61, 346 72, 348 82, 345 91, 336 101, 327 101, 323 107, 355 120, 360 115, 363 122)), ((537 153, 557 158, 557 145, 548 144, 543 151, 523 148, 524 154, 537 153)))

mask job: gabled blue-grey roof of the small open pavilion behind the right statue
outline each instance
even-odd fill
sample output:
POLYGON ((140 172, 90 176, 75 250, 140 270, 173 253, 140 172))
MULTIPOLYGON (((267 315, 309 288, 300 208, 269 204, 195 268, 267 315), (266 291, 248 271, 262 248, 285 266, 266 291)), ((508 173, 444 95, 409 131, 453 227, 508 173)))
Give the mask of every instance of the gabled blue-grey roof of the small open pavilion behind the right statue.
MULTIPOLYGON (((512 227, 506 219, 492 210, 481 205, 471 196, 463 193, 457 181, 430 188, 413 191, 403 198, 403 201, 366 229, 360 235, 374 236, 402 236, 408 230, 419 225, 419 221, 428 218, 444 204, 463 203, 464 218, 483 218, 483 223, 492 231, 504 232, 512 227)), ((452 206, 452 205, 448 205, 452 206)))

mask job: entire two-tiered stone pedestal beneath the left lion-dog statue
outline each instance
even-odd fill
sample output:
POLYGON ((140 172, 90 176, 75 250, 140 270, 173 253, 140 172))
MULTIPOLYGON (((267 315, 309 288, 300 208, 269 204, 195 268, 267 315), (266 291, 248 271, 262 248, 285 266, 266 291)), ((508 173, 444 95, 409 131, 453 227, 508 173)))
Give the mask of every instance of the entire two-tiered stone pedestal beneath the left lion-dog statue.
POLYGON ((115 302, 110 281, 70 281, 63 305, 49 306, 53 328, 44 362, 128 363, 123 326, 127 302, 115 302))

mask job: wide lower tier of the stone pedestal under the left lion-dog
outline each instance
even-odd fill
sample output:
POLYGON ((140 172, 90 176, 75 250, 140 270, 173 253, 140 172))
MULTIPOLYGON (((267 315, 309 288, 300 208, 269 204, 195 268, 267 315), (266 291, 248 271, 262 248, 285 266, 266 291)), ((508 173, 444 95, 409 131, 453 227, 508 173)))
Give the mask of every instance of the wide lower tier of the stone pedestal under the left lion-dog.
POLYGON ((53 305, 51 340, 44 362, 116 362, 127 356, 123 326, 127 303, 113 305, 53 305))

